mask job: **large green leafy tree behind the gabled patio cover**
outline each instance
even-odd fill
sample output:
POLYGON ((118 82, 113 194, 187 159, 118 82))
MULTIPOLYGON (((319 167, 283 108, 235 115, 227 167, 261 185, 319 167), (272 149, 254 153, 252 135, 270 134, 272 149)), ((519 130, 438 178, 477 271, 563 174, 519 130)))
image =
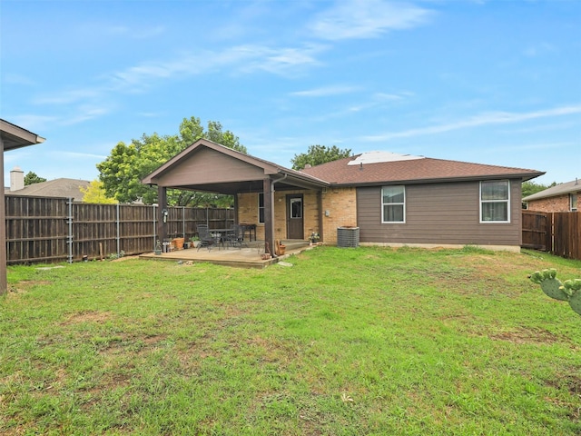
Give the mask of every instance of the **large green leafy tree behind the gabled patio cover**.
MULTIPOLYGON (((179 134, 143 134, 140 139, 133 139, 131 144, 120 142, 115 145, 111 154, 102 163, 97 163, 104 192, 121 203, 140 199, 146 204, 156 203, 157 189, 141 183, 143 177, 201 138, 247 153, 238 136, 229 130, 224 132, 222 124, 208 122, 208 131, 204 132, 200 118, 184 118, 179 134)), ((169 205, 192 207, 232 203, 231 196, 180 190, 168 190, 167 201, 169 205)))

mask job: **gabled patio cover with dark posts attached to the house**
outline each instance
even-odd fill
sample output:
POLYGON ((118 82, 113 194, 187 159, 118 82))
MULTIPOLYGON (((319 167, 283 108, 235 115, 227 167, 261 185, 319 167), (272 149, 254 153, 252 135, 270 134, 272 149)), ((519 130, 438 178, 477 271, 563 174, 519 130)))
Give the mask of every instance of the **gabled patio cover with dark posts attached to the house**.
POLYGON ((142 183, 158 187, 158 234, 167 232, 162 212, 167 208, 167 189, 175 188, 234 195, 234 220, 238 221, 237 193, 264 193, 264 234, 274 246, 274 191, 291 189, 322 190, 330 184, 305 173, 285 168, 221 144, 200 139, 172 157, 142 183))

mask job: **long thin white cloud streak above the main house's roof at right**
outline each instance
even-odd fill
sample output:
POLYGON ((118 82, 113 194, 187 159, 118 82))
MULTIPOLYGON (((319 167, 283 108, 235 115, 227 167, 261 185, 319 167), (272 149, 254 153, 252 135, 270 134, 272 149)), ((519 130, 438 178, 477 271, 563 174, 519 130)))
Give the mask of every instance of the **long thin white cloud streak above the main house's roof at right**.
POLYGON ((536 111, 524 114, 515 114, 507 112, 480 114, 478 116, 468 118, 468 120, 460 120, 454 123, 433 125, 429 127, 421 127, 419 129, 410 129, 402 132, 394 132, 388 134, 369 135, 364 136, 362 139, 369 142, 389 141, 395 138, 408 138, 412 136, 420 136, 426 134, 443 134, 446 132, 466 129, 469 127, 480 127, 483 125, 490 124, 515 124, 535 120, 538 118, 564 116, 571 114, 581 114, 581 104, 562 106, 554 109, 547 109, 545 111, 536 111))

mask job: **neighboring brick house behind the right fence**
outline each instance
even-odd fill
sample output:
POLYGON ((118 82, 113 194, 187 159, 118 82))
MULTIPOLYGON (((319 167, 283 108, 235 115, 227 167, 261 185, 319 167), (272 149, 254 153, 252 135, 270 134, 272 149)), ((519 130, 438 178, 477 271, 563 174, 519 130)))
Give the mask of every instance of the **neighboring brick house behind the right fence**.
POLYGON ((560 183, 544 191, 523 198, 527 210, 538 212, 577 212, 577 201, 581 195, 581 182, 560 183))

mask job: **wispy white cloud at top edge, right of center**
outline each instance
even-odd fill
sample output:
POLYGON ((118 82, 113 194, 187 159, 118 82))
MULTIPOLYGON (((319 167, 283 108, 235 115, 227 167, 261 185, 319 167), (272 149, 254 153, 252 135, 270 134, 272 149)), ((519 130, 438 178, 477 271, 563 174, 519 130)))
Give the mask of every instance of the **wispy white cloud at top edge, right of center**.
POLYGON ((312 35, 331 41, 376 38, 389 30, 423 25, 432 12, 407 3, 382 0, 339 0, 310 23, 312 35))

